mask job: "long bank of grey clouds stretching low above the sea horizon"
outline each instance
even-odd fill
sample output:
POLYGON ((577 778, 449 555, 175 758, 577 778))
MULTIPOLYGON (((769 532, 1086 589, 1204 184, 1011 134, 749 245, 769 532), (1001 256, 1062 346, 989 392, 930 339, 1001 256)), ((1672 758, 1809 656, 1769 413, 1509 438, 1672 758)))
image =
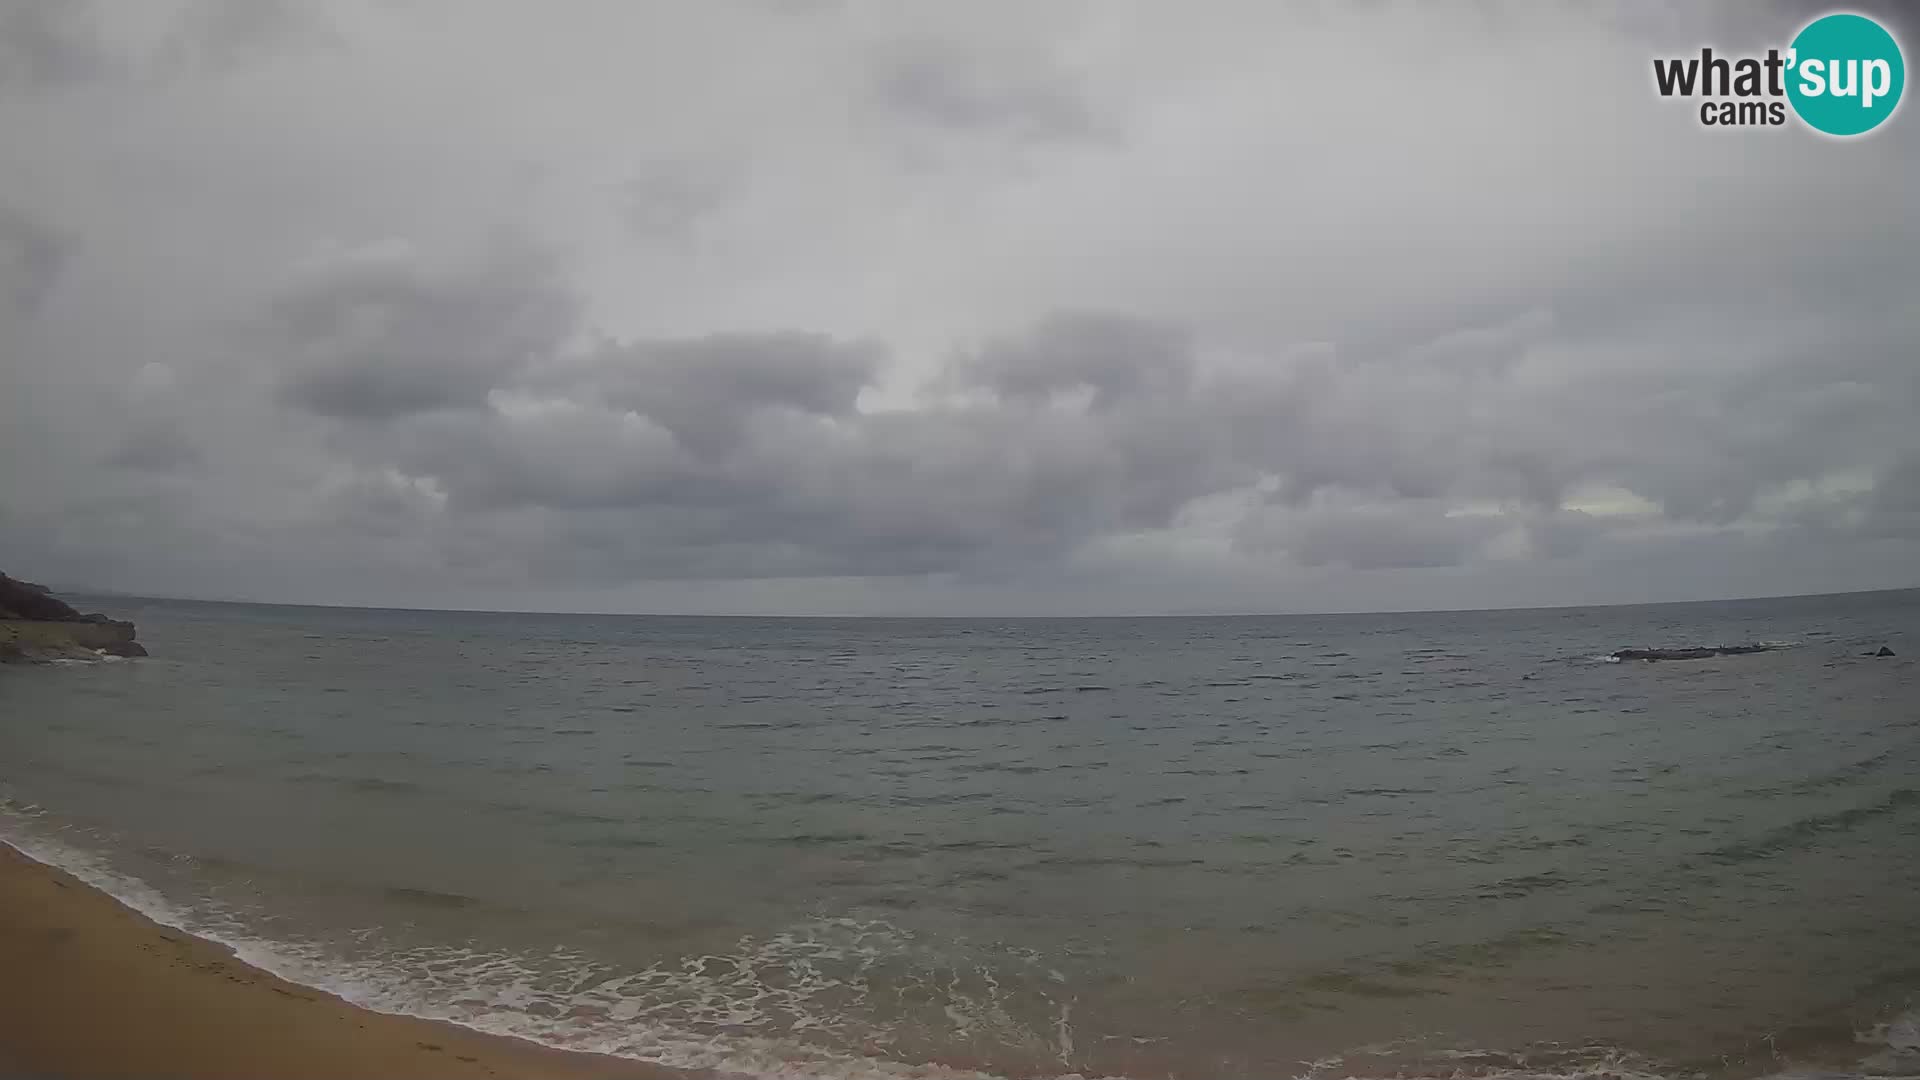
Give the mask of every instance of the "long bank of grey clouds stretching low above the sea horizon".
POLYGON ((1638 521, 1563 505, 1590 482, 1668 521, 1732 525, 1851 459, 1818 438, 1826 425, 1887 415, 1791 379, 1676 396, 1697 375, 1620 373, 1603 354, 1572 380, 1526 379, 1569 363, 1553 327, 1521 311, 1352 363, 1219 356, 1167 323, 1058 313, 954 354, 933 396, 893 407, 860 405, 885 371, 877 346, 611 342, 499 365, 492 404, 474 382, 465 411, 392 411, 353 440, 365 467, 444 492, 447 513, 536 515, 559 550, 522 553, 551 573, 991 577, 1173 528, 1196 500, 1261 482, 1267 509, 1231 530, 1242 553, 1371 571, 1473 563, 1496 542, 1576 557, 1638 521))

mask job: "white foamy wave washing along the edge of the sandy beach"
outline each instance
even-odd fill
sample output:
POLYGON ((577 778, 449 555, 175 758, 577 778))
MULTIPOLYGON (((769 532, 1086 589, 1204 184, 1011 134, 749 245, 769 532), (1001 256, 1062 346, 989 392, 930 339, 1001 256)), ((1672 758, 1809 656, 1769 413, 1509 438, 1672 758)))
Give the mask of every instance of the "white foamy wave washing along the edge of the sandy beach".
MULTIPOLYGON (((225 945, 250 967, 376 1013, 555 1049, 768 1080, 998 1080, 972 1068, 910 1065, 803 1042, 808 1034, 885 1042, 885 1030, 851 1030, 862 1019, 843 1009, 847 984, 824 972, 829 961, 866 970, 925 951, 910 934, 877 920, 818 919, 766 940, 743 940, 730 955, 687 957, 636 972, 607 970, 564 951, 549 961, 570 963, 570 970, 541 972, 516 953, 478 947, 394 949, 376 961, 342 961, 317 942, 261 938, 217 905, 175 905, 84 851, 17 838, 0 844, 73 874, 161 926, 225 945), (714 1034, 760 1028, 789 1034, 714 1034)), ((453 897, 411 892, 415 901, 453 897)), ((947 1009, 956 1022, 985 1030, 1006 1015, 991 978, 966 992, 954 972, 950 992, 947 1009)), ((1069 1030, 1069 1015, 1062 1011, 1048 1036, 1069 1030)))

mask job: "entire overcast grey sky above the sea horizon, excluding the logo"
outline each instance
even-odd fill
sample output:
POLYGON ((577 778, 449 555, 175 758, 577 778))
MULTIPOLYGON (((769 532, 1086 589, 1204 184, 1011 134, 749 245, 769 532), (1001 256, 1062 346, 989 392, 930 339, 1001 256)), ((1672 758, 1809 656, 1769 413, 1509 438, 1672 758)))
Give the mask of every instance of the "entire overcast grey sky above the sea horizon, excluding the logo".
POLYGON ((1914 106, 1653 92, 1820 12, 0 0, 0 569, 770 615, 1920 586, 1914 106))

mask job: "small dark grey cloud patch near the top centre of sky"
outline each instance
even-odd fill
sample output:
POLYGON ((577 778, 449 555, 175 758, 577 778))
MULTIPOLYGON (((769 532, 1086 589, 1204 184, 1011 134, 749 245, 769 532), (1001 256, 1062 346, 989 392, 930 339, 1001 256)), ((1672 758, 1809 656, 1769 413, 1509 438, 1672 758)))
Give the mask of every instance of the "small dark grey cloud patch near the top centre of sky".
POLYGON ((1098 115, 1062 73, 948 42, 910 40, 885 50, 874 63, 870 92, 906 119, 952 131, 1046 140, 1102 133, 1098 115))

